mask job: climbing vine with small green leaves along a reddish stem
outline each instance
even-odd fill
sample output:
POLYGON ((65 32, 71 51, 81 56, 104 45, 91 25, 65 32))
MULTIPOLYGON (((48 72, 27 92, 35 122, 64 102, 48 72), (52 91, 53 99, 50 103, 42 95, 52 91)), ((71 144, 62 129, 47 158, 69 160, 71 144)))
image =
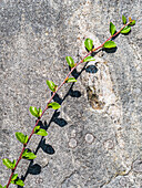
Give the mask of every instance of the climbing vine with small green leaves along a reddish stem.
POLYGON ((11 169, 11 175, 9 177, 8 184, 4 187, 2 187, 0 185, 0 188, 8 188, 10 184, 19 185, 21 187, 24 186, 24 182, 19 178, 18 174, 16 174, 16 169, 17 169, 19 163, 22 159, 30 159, 31 160, 31 159, 34 159, 37 157, 32 152, 30 152, 27 148, 27 145, 30 142, 31 137, 34 134, 40 135, 40 136, 47 136, 48 135, 47 130, 39 126, 39 121, 42 118, 42 116, 44 115, 44 113, 49 108, 58 109, 58 108, 61 107, 61 105, 59 103, 52 102, 52 101, 53 101, 54 95, 58 93, 58 91, 64 84, 70 83, 70 82, 77 82, 77 80, 74 77, 70 77, 73 70, 75 70, 75 67, 79 66, 81 63, 87 63, 87 62, 90 62, 90 61, 94 61, 92 52, 97 52, 99 49, 113 49, 113 48, 116 48, 116 44, 113 41, 114 36, 116 36, 119 33, 122 33, 122 34, 129 33, 131 31, 131 25, 135 24, 135 20, 132 20, 131 18, 129 18, 129 21, 126 22, 126 18, 124 15, 122 15, 122 22, 123 22, 123 27, 119 31, 116 31, 115 25, 112 22, 110 22, 110 33, 111 33, 111 35, 110 35, 110 38, 108 40, 105 40, 98 48, 93 48, 93 41, 91 39, 85 39, 84 48, 87 49, 88 54, 80 62, 74 63, 74 61, 73 61, 73 59, 71 56, 65 58, 65 61, 70 66, 70 72, 68 73, 68 75, 65 76, 65 79, 62 81, 62 83, 59 86, 55 85, 52 81, 47 81, 47 85, 48 85, 49 90, 52 92, 52 96, 48 101, 48 103, 45 105, 45 108, 43 111, 41 108, 30 106, 30 108, 29 108, 30 113, 34 117, 37 117, 38 119, 37 119, 36 125, 32 128, 31 134, 29 136, 24 135, 24 134, 22 134, 20 132, 16 133, 17 139, 22 144, 22 149, 21 149, 20 156, 19 156, 19 158, 17 160, 13 159, 13 161, 10 161, 8 158, 2 159, 3 165, 7 168, 11 169))

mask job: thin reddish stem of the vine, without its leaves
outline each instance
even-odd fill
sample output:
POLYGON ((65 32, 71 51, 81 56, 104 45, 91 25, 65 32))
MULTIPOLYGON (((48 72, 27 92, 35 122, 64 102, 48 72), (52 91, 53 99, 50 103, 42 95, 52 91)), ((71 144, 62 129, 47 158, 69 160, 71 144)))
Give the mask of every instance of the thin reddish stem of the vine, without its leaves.
MULTIPOLYGON (((57 91, 52 94, 52 96, 51 96, 50 100, 48 101, 48 104, 52 101, 52 98, 53 98, 54 95, 58 93, 58 91, 63 86, 63 84, 65 83, 65 81, 67 81, 67 79, 70 76, 70 74, 73 72, 73 70, 74 70, 79 64, 83 63, 83 60, 84 60, 87 56, 89 56, 92 52, 95 52, 97 50, 103 48, 103 45, 104 45, 104 43, 105 43, 106 41, 110 41, 112 38, 114 38, 115 35, 118 35, 118 34, 121 32, 121 30, 123 30, 123 29, 124 29, 126 25, 129 25, 129 24, 130 24, 130 22, 128 22, 126 24, 124 24, 115 34, 111 35, 108 40, 105 40, 105 41, 104 41, 100 46, 98 46, 97 49, 93 49, 92 51, 90 51, 79 63, 77 63, 75 66, 73 66, 73 67, 71 69, 71 71, 68 73, 68 75, 67 75, 67 77, 63 80, 63 82, 58 86, 57 91)), ((29 143, 29 140, 31 139, 31 136, 34 134, 34 128, 36 128, 36 126, 39 124, 39 121, 41 119, 41 117, 43 116, 43 114, 45 113, 45 111, 48 109, 48 104, 47 104, 45 108, 43 109, 41 116, 38 118, 36 125, 34 125, 34 127, 33 127, 33 129, 32 129, 32 132, 31 132, 31 134, 30 134, 30 136, 29 136, 28 143, 29 143)), ((27 144, 28 144, 28 143, 27 143, 27 144)), ((27 144, 23 145, 23 148, 22 148, 22 150, 21 150, 21 154, 20 154, 20 156, 19 156, 19 158, 18 158, 18 160, 17 160, 17 164, 16 164, 14 168, 12 169, 12 173, 11 173, 11 175, 10 175, 9 181, 8 181, 8 184, 7 184, 7 188, 8 188, 9 185, 10 185, 11 178, 12 178, 12 176, 13 176, 16 169, 17 169, 18 164, 19 164, 20 160, 22 159, 22 154, 23 154, 23 152, 24 152, 24 149, 26 149, 26 147, 27 147, 27 144)))

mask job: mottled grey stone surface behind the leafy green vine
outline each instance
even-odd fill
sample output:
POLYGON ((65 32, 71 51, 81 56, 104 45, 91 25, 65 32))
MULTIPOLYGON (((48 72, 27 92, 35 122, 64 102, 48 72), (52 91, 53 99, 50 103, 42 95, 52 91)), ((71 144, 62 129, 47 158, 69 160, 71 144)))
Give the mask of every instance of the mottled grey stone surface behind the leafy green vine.
POLYGON ((125 14, 136 20, 132 31, 114 39, 115 52, 78 67, 78 82, 54 98, 62 107, 42 118, 49 135, 28 145, 37 158, 17 173, 28 188, 142 188, 141 8, 141 0, 0 1, 0 184, 10 175, 2 158, 17 159, 22 147, 14 133, 34 126, 29 106, 44 108, 51 96, 45 80, 60 84, 65 56, 78 62, 84 39, 98 46, 125 14))

